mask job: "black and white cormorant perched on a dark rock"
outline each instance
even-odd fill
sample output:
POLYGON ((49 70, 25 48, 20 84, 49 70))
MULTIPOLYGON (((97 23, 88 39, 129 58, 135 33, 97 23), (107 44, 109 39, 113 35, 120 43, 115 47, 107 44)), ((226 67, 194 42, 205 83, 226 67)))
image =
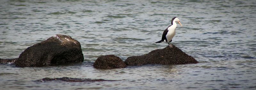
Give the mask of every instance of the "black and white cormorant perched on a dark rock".
POLYGON ((169 42, 172 42, 172 38, 174 37, 176 31, 176 27, 177 27, 177 23, 178 22, 180 24, 180 26, 182 27, 181 23, 180 23, 180 19, 177 17, 173 17, 172 18, 172 22, 171 25, 164 30, 164 33, 162 35, 162 40, 155 42, 155 43, 161 43, 161 42, 167 42, 168 45, 170 46, 170 48, 172 48, 172 46, 169 44, 169 42))

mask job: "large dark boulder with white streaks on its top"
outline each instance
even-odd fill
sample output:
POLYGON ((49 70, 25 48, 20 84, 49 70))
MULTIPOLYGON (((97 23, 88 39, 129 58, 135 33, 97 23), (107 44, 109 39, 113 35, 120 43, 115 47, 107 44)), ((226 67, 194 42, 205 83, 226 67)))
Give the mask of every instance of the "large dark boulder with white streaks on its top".
POLYGON ((24 50, 15 65, 19 67, 42 67, 83 62, 80 42, 68 35, 54 35, 24 50))

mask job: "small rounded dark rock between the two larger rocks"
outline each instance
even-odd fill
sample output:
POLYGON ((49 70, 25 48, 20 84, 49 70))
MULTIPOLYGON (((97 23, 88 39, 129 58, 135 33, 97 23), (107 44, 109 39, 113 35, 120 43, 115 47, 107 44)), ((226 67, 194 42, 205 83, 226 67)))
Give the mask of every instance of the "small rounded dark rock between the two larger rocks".
POLYGON ((93 67, 98 69, 113 69, 127 67, 124 61, 115 55, 104 55, 97 58, 93 67))

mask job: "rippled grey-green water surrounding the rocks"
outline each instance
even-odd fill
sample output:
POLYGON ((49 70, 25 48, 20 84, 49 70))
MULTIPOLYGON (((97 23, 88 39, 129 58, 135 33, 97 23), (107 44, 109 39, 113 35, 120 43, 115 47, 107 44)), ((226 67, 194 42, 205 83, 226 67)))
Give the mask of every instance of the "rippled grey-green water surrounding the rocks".
POLYGON ((56 35, 81 43, 84 62, 51 67, 0 64, 2 89, 256 89, 254 0, 1 0, 0 58, 17 58, 56 35), (144 65, 100 70, 101 55, 125 60, 167 46, 161 39, 172 17, 172 44, 198 64, 144 65), (39 82, 42 78, 119 81, 39 82))

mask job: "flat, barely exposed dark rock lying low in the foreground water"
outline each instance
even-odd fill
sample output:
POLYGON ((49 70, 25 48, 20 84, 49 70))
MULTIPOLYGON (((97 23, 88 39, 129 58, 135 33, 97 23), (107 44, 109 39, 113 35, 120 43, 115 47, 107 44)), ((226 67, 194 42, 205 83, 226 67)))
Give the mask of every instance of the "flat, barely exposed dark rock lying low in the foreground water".
POLYGON ((68 78, 68 77, 62 77, 62 78, 43 78, 40 81, 52 81, 52 80, 62 80, 67 82, 96 82, 96 81, 117 81, 117 80, 104 80, 104 79, 79 79, 79 78, 68 78))

